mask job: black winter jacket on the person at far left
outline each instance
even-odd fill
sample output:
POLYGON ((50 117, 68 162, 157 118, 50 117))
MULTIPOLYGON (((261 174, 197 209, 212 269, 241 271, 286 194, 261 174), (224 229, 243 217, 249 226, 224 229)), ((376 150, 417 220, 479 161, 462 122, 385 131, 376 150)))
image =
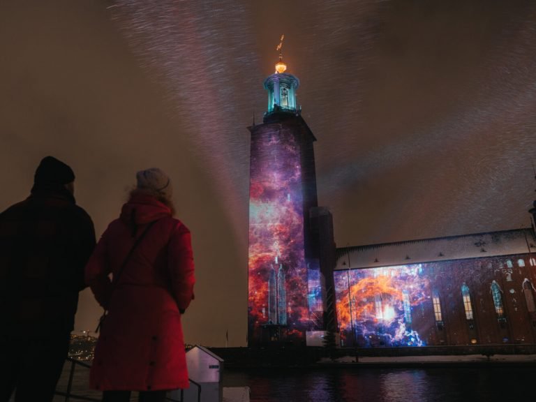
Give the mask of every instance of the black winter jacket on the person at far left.
POLYGON ((4 336, 73 330, 93 222, 64 188, 35 189, 0 214, 0 322, 4 336))

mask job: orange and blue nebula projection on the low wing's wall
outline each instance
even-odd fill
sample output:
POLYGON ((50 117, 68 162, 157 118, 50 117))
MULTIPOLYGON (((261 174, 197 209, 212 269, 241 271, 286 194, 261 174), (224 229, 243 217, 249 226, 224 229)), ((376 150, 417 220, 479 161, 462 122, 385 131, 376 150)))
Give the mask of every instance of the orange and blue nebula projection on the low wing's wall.
POLYGON ((335 271, 341 337, 369 346, 424 346, 412 313, 431 295, 422 265, 335 271))

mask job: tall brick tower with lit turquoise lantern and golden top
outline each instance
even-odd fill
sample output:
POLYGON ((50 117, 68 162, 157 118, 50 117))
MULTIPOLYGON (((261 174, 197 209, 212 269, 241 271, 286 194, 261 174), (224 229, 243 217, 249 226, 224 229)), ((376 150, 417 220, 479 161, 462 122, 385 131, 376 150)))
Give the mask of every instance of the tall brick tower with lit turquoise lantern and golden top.
POLYGON ((304 343, 306 331, 325 326, 325 274, 311 230, 318 206, 316 139, 296 102, 299 80, 286 67, 280 52, 276 72, 264 82, 268 110, 262 124, 249 127, 250 346, 304 343))

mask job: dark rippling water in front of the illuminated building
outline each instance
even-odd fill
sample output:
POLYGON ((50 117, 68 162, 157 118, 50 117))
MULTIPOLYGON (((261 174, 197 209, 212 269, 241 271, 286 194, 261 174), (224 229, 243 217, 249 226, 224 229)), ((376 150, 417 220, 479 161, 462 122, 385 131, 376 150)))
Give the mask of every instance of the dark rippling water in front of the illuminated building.
POLYGON ((534 366, 226 370, 252 402, 536 401, 534 366))

